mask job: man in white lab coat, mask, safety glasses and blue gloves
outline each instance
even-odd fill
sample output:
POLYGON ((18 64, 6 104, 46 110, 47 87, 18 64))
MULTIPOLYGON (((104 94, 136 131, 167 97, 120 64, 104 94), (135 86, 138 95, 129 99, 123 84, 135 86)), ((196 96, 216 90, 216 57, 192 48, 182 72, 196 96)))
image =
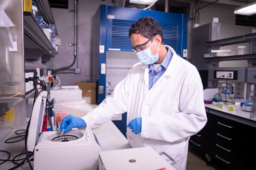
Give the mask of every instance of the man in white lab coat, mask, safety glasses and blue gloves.
POLYGON ((166 152, 176 160, 174 168, 185 170, 188 140, 207 121, 199 73, 163 44, 162 29, 154 18, 133 23, 129 36, 140 62, 97 108, 82 118, 65 117, 61 130, 92 129, 127 112, 129 144, 166 152))

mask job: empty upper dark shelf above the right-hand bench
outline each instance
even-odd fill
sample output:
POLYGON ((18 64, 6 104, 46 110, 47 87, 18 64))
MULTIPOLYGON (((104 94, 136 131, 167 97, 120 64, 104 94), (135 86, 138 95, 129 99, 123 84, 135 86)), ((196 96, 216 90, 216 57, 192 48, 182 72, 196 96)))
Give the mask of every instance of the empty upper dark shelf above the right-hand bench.
POLYGON ((237 37, 226 38, 222 40, 209 41, 209 42, 206 42, 206 45, 220 47, 220 46, 227 46, 227 45, 233 45, 233 44, 240 44, 244 42, 248 42, 245 36, 237 36, 237 37))

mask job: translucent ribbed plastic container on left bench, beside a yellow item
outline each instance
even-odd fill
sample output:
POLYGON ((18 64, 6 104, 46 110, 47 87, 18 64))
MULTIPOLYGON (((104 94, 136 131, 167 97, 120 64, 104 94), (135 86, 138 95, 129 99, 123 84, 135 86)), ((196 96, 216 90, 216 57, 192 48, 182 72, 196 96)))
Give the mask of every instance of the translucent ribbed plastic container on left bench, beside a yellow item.
POLYGON ((26 124, 27 119, 27 106, 26 99, 22 100, 16 106, 13 107, 14 119, 13 119, 13 128, 22 128, 26 124))

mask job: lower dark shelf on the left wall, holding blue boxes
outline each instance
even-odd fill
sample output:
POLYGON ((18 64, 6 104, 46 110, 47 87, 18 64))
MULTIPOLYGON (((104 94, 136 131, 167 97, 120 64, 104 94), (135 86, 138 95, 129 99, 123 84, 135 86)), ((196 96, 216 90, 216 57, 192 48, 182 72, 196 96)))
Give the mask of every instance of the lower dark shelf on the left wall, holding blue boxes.
POLYGON ((55 57, 58 54, 32 13, 27 11, 24 11, 24 35, 28 41, 44 50, 50 56, 55 57))

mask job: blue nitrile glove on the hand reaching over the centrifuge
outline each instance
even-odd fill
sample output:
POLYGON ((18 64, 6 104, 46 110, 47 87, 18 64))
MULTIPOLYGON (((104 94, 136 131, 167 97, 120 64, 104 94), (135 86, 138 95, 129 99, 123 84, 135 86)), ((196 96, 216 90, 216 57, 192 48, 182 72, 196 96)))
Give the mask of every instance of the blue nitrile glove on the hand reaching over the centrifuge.
POLYGON ((86 123, 83 119, 75 117, 73 115, 68 115, 64 117, 64 119, 61 121, 60 125, 60 131, 64 130, 64 133, 68 132, 72 128, 81 128, 85 127, 86 123))

